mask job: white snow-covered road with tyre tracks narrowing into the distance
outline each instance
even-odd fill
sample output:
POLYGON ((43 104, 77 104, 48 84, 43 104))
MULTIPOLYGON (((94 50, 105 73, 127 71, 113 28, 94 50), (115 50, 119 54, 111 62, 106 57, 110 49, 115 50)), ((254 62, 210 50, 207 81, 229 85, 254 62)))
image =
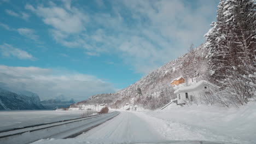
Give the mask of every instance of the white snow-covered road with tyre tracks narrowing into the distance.
POLYGON ((129 142, 162 140, 163 137, 134 113, 123 111, 110 121, 79 135, 77 139, 92 142, 129 142))

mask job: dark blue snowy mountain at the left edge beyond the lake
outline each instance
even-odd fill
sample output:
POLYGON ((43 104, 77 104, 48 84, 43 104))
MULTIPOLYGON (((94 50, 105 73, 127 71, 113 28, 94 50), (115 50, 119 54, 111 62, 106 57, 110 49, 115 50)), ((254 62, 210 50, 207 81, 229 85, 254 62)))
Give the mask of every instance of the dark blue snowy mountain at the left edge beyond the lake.
POLYGON ((40 110, 44 109, 40 104, 40 98, 36 93, 22 91, 11 92, 0 88, 0 110, 40 110))

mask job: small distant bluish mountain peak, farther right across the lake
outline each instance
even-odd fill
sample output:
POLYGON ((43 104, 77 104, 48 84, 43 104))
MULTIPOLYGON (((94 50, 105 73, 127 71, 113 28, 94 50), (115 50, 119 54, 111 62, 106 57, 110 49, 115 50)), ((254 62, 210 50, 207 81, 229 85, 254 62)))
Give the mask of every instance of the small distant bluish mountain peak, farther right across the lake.
POLYGON ((54 99, 41 101, 41 104, 46 109, 50 109, 50 110, 61 108, 61 107, 68 107, 69 105, 74 104, 74 103, 75 103, 75 101, 73 99, 68 99, 63 94, 55 97, 54 99))

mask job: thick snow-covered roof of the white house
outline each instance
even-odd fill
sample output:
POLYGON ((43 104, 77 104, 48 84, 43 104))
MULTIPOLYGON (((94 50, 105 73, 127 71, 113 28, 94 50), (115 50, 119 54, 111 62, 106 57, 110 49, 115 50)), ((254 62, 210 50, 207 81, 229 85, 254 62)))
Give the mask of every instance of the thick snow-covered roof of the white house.
POLYGON ((179 87, 176 91, 174 91, 174 94, 179 93, 179 92, 188 92, 188 91, 195 91, 197 88, 200 88, 203 84, 214 87, 214 88, 219 88, 218 86, 214 85, 211 82, 202 80, 199 81, 193 85, 187 86, 187 87, 179 87))

